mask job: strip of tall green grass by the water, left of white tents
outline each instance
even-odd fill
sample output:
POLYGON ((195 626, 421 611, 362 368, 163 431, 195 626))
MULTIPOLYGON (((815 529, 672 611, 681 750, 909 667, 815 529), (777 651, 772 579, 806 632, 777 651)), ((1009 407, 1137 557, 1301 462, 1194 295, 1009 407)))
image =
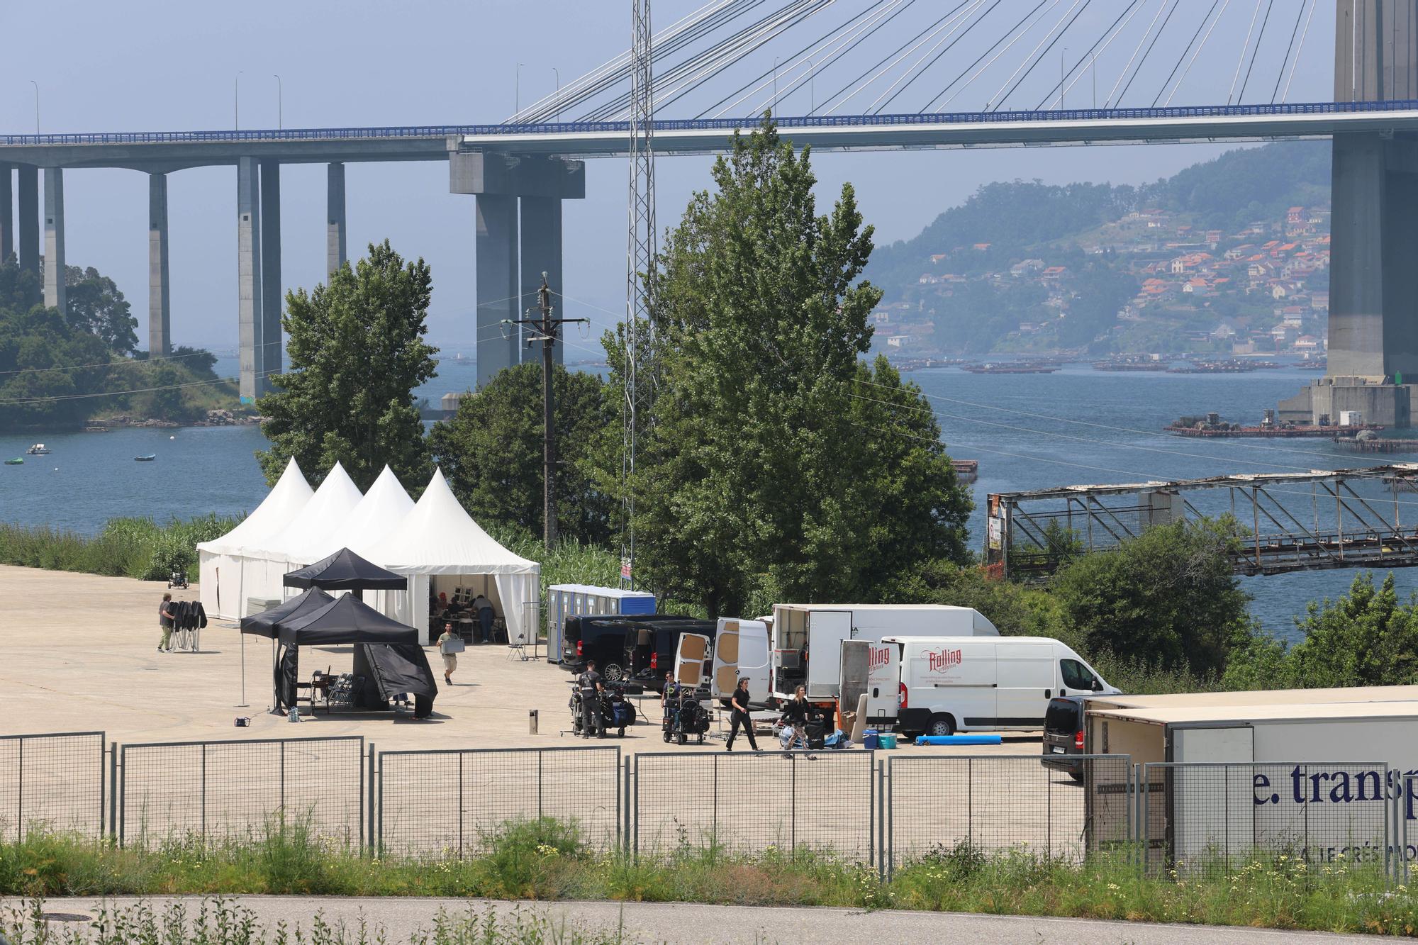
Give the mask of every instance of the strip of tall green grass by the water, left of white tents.
POLYGON ((218 538, 240 521, 204 515, 159 525, 150 518, 111 518, 96 535, 0 524, 0 563, 138 580, 166 580, 184 570, 196 580, 197 542, 218 538))

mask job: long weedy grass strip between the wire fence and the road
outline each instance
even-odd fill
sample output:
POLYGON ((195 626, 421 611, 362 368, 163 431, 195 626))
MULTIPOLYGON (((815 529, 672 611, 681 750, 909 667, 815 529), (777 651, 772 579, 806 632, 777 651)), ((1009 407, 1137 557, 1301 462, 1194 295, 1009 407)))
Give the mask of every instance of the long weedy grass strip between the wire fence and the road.
MULTIPOLYGON (((271 824, 245 841, 170 841, 155 850, 37 836, 0 844, 0 895, 415 895, 835 905, 1059 915, 1151 922, 1415 935, 1418 895, 1387 887, 1381 864, 1307 864, 1266 854, 1143 877, 1122 856, 1075 864, 1022 851, 937 850, 882 884, 828 854, 754 856, 682 846, 634 861, 590 850, 574 826, 509 823, 486 853, 455 860, 362 858, 305 829, 271 824)), ((261 941, 261 939, 257 939, 261 941)))

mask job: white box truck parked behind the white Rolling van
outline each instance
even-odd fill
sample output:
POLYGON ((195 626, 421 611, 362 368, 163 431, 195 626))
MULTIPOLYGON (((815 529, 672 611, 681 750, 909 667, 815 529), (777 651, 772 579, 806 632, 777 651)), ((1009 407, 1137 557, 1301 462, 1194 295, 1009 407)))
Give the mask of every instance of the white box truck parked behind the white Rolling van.
POLYGON ((770 629, 771 698, 793 698, 793 691, 805 685, 810 700, 837 700, 841 695, 842 640, 881 641, 888 636, 997 637, 1000 631, 971 607, 774 604, 770 629))

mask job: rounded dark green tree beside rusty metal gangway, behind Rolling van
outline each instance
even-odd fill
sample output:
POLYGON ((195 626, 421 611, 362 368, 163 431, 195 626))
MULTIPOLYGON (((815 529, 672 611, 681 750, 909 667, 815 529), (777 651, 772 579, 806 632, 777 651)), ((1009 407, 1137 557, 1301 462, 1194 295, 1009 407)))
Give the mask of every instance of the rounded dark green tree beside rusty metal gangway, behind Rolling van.
POLYGON ((1229 516, 1157 525, 1071 562, 1052 590, 1089 651, 1218 673, 1252 634, 1249 597, 1231 570, 1236 541, 1229 516))

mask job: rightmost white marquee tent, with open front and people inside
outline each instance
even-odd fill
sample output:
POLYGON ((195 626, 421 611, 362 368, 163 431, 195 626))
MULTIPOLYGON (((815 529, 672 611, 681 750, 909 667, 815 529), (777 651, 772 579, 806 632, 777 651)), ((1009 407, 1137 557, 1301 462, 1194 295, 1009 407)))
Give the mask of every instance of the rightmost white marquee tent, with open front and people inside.
MULTIPOLYGON (((410 575, 410 593, 397 620, 415 626, 428 643, 430 592, 455 587, 485 593, 508 624, 508 641, 532 644, 539 631, 540 565, 499 545, 472 521, 434 470, 428 488, 387 541, 357 553, 400 575, 410 575)), ((450 596, 452 596, 450 593, 450 596)))

